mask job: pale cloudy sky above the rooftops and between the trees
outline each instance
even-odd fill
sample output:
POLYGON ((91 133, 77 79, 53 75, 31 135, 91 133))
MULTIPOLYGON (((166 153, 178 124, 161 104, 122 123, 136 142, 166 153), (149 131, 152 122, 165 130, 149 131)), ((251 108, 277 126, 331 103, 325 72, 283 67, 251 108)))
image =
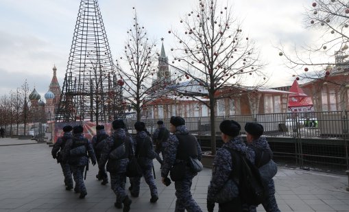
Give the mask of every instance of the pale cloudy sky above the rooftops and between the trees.
MULTIPOLYGON (((310 0, 218 0, 232 5, 232 12, 242 21, 243 32, 254 40, 267 63, 267 86, 288 86, 294 78, 278 56, 280 43, 287 51, 311 43, 313 32, 304 27, 304 7, 310 0)), ((132 26, 133 7, 149 38, 165 38, 169 60, 174 46, 169 30, 180 30, 180 19, 194 8, 197 0, 99 0, 113 59, 122 56, 132 26)), ((49 89, 56 65, 62 87, 73 40, 73 30, 80 0, 0 0, 0 96, 15 91, 27 79, 43 95, 49 89)), ((45 99, 44 99, 45 100, 45 99)))

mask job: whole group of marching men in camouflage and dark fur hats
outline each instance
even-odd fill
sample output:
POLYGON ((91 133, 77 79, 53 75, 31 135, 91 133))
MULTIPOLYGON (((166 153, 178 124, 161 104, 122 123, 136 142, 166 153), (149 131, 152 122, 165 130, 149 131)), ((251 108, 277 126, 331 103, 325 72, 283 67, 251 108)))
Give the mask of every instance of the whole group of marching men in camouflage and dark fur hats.
MULTIPOLYGON (((192 180, 197 172, 193 170, 189 159, 201 161, 202 152, 196 137, 186 129, 184 119, 179 116, 171 117, 169 130, 165 128, 163 121, 158 121, 158 128, 152 137, 142 121, 137 121, 134 128, 136 135, 132 137, 123 120, 117 119, 112 121, 113 132, 110 136, 104 130, 104 126, 99 125, 96 126, 97 134, 90 142, 84 137, 82 126, 64 126, 64 135, 58 138, 51 153, 62 167, 66 189, 74 189, 76 193, 80 193, 80 198, 85 198, 87 191, 84 185, 84 170, 86 178, 88 160, 91 158, 92 165, 98 165, 99 172, 96 178, 101 180, 101 185, 108 183, 107 172, 110 174, 111 189, 116 194, 115 207, 123 209, 123 212, 130 211, 132 200, 125 190, 126 172, 132 158, 137 158, 142 176, 149 185, 150 202, 155 203, 158 201, 158 190, 153 175, 153 159, 156 158, 161 165, 163 184, 169 186, 171 180, 174 182, 177 198, 175 211, 202 211, 191 195, 192 180), (153 141, 156 144, 155 150, 153 141), (163 159, 159 156, 160 152, 163 159)), ((276 204, 272 179, 276 174, 275 167, 272 168, 275 163, 272 161, 269 144, 265 137, 261 137, 263 126, 259 123, 246 123, 246 143, 239 137, 241 126, 236 121, 222 121, 219 128, 224 144, 217 150, 213 161, 212 178, 207 194, 208 212, 214 210, 215 203, 218 203, 219 211, 222 212, 256 211, 257 205, 247 204, 250 201, 246 201, 246 196, 239 187, 239 182, 245 182, 241 179, 244 177, 241 174, 241 161, 244 160, 241 158, 254 164, 261 176, 264 176, 265 192, 261 204, 265 211, 280 211, 276 204)), ((133 198, 139 196, 140 182, 141 177, 130 178, 131 186, 128 189, 133 198)))

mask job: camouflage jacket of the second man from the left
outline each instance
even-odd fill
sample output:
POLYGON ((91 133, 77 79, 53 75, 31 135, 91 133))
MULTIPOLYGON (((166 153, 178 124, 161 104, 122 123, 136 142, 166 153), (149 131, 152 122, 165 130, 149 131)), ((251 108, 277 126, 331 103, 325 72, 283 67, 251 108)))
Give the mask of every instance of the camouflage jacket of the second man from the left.
MULTIPOLYGON (((93 151, 92 143, 86 139, 85 147, 88 152, 88 156, 69 156, 70 150, 73 146, 73 140, 77 139, 82 141, 86 139, 83 133, 73 134, 73 138, 67 140, 66 145, 63 148, 63 161, 67 161, 70 165, 85 166, 88 164, 88 156, 91 157, 91 161, 96 163, 95 151, 93 151)), ((86 152, 86 153, 87 153, 86 152)))

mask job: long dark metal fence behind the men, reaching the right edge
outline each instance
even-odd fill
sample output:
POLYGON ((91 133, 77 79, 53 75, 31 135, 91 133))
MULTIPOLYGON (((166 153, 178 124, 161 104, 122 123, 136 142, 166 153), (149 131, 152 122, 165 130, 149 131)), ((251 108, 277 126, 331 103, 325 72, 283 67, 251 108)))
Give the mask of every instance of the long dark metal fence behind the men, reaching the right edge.
MULTIPOLYGON (((276 161, 294 163, 304 169, 345 173, 349 169, 348 111, 311 113, 272 113, 258 115, 232 115, 215 117, 215 131, 220 147, 219 123, 232 119, 241 124, 244 137, 246 122, 258 122, 264 126, 276 161)), ((186 117, 186 127, 202 141, 204 149, 210 148, 210 117, 186 117), (206 137, 206 139, 205 139, 206 137)), ((159 119, 143 119, 149 132, 154 132, 159 119)), ((169 119, 162 119, 169 127, 169 119)), ((133 128, 136 120, 127 120, 133 128)))

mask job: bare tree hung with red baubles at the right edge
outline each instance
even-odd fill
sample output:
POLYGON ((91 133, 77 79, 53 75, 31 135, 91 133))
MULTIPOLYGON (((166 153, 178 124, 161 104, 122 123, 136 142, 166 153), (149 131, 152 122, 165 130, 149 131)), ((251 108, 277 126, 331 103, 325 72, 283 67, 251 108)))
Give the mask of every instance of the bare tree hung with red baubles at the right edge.
MULTIPOLYGON (((315 43, 295 47, 291 53, 286 52, 283 45, 278 47, 286 66, 295 71, 293 77, 296 80, 316 82, 311 92, 317 111, 321 105, 317 94, 328 90, 328 86, 331 91, 339 93, 339 99, 346 99, 348 78, 344 73, 349 71, 348 7, 348 1, 315 0, 304 12, 305 27, 318 34, 315 43)), ((342 109, 346 108, 345 102, 342 101, 342 109)))

